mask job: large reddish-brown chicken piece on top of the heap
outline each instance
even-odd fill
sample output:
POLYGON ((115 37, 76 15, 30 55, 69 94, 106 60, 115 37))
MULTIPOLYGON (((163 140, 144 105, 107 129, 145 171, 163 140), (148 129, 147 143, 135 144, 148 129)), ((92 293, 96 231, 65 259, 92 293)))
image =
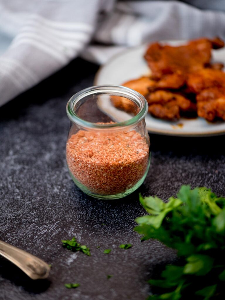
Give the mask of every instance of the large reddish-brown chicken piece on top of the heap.
POLYGON ((147 49, 145 59, 155 78, 176 72, 186 74, 204 68, 210 63, 211 49, 223 46, 224 43, 219 38, 201 38, 177 47, 154 43, 147 49))

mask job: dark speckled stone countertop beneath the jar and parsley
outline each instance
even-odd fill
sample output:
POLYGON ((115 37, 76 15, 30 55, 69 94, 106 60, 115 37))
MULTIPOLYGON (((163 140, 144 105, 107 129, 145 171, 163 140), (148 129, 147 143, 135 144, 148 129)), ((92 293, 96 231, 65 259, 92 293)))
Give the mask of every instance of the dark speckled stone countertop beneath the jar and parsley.
POLYGON ((76 59, 0 108, 0 239, 52 264, 49 279, 35 281, 0 258, 0 299, 144 300, 152 272, 176 256, 157 241, 141 243, 133 231, 134 219, 145 214, 138 193, 166 200, 190 184, 225 196, 224 136, 158 135, 150 136, 151 166, 139 190, 113 202, 83 194, 66 167, 65 106, 92 85, 97 69, 76 59), (91 248, 90 257, 61 246, 73 236, 91 248), (122 243, 134 246, 123 250, 122 243), (80 287, 64 287, 71 282, 80 287))

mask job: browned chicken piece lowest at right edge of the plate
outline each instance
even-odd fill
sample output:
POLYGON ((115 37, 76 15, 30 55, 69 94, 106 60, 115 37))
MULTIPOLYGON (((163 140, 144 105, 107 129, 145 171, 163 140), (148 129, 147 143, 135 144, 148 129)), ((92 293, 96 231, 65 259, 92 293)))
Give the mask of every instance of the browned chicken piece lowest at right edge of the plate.
POLYGON ((216 117, 225 121, 225 88, 212 87, 196 97, 199 117, 213 121, 216 117))

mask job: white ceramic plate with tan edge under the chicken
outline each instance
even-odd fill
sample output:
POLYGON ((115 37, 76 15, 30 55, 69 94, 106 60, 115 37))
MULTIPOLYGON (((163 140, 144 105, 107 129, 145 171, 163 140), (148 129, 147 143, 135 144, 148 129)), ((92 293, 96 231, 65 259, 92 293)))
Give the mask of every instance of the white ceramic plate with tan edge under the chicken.
MULTIPOLYGON (((184 41, 165 41, 165 43, 176 46, 184 44, 184 41)), ((142 45, 125 50, 114 56, 98 70, 94 84, 121 85, 125 81, 150 75, 149 67, 143 58, 146 49, 147 45, 142 45)), ((225 64, 225 48, 213 50, 212 60, 225 64)), ((225 122, 210 123, 202 118, 181 118, 178 122, 170 122, 155 119, 148 114, 146 116, 146 126, 150 133, 173 136, 203 137, 225 134, 225 122)))

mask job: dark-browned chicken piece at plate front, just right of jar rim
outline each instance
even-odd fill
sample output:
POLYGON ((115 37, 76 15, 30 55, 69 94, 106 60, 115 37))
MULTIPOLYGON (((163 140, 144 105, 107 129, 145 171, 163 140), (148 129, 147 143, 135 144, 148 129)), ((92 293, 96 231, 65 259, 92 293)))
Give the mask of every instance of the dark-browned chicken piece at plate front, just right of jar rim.
POLYGON ((155 91, 146 99, 149 104, 149 113, 160 119, 179 119, 181 111, 196 110, 195 104, 189 99, 170 91, 155 91))

